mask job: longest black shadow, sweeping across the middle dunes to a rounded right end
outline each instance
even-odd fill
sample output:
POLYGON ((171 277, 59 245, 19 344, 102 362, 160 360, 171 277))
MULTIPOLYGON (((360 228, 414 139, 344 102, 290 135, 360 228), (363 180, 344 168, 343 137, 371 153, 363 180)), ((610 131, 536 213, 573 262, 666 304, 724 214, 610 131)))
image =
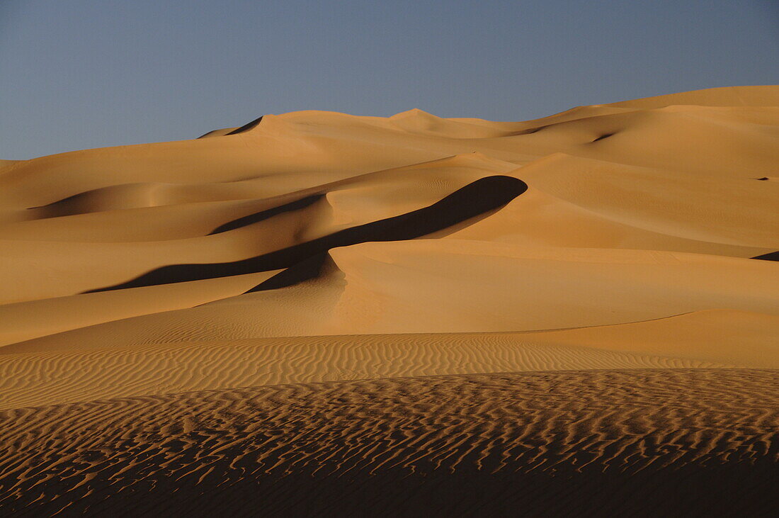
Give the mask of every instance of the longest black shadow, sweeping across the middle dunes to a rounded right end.
MULTIPOLYGON (((347 228, 276 252, 231 263, 163 266, 128 282, 84 293, 280 270, 301 263, 314 255, 324 254, 330 248, 356 245, 365 241, 404 241, 420 238, 471 217, 495 210, 506 205, 516 196, 520 196, 526 190, 527 184, 517 178, 502 175, 480 178, 431 206, 400 216, 347 228)), ((270 280, 273 280, 273 277, 266 280, 266 283, 270 280)))

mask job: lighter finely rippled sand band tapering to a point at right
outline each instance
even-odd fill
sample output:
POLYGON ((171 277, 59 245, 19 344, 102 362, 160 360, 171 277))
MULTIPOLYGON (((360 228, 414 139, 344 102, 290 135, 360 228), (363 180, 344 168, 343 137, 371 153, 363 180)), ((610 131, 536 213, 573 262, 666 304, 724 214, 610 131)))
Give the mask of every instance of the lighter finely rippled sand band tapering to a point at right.
POLYGON ((0 355, 0 409, 280 383, 489 372, 728 366, 734 365, 545 344, 540 334, 533 333, 182 342, 0 355))

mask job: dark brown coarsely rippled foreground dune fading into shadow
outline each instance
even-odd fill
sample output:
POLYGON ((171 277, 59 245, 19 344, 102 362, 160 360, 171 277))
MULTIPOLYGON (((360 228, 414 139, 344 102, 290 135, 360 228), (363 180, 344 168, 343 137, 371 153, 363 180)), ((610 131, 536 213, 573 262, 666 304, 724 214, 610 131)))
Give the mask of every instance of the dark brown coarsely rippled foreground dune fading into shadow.
POLYGON ((0 508, 392 516, 435 502, 509 515, 573 500, 586 516, 756 516, 775 499, 777 395, 776 371, 639 369, 19 408, 0 412, 0 442, 14 445, 0 454, 0 508))

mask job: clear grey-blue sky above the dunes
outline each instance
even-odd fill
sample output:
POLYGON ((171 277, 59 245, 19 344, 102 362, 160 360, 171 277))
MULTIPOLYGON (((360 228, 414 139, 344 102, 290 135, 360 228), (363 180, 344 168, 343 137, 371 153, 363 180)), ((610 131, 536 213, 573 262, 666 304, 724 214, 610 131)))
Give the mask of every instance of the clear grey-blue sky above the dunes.
POLYGON ((779 83, 779 0, 0 0, 0 158, 779 83))

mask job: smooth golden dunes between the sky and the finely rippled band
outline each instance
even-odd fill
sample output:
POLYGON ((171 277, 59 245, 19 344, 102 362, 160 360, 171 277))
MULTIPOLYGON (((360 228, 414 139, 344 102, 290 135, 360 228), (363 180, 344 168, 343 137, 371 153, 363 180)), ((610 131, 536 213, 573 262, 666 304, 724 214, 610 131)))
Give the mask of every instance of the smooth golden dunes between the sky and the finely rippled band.
POLYGON ((775 329, 779 271, 749 258, 779 250, 779 184, 760 180, 777 99, 743 86, 529 122, 299 111, 7 160, 0 353, 712 310, 775 329))

